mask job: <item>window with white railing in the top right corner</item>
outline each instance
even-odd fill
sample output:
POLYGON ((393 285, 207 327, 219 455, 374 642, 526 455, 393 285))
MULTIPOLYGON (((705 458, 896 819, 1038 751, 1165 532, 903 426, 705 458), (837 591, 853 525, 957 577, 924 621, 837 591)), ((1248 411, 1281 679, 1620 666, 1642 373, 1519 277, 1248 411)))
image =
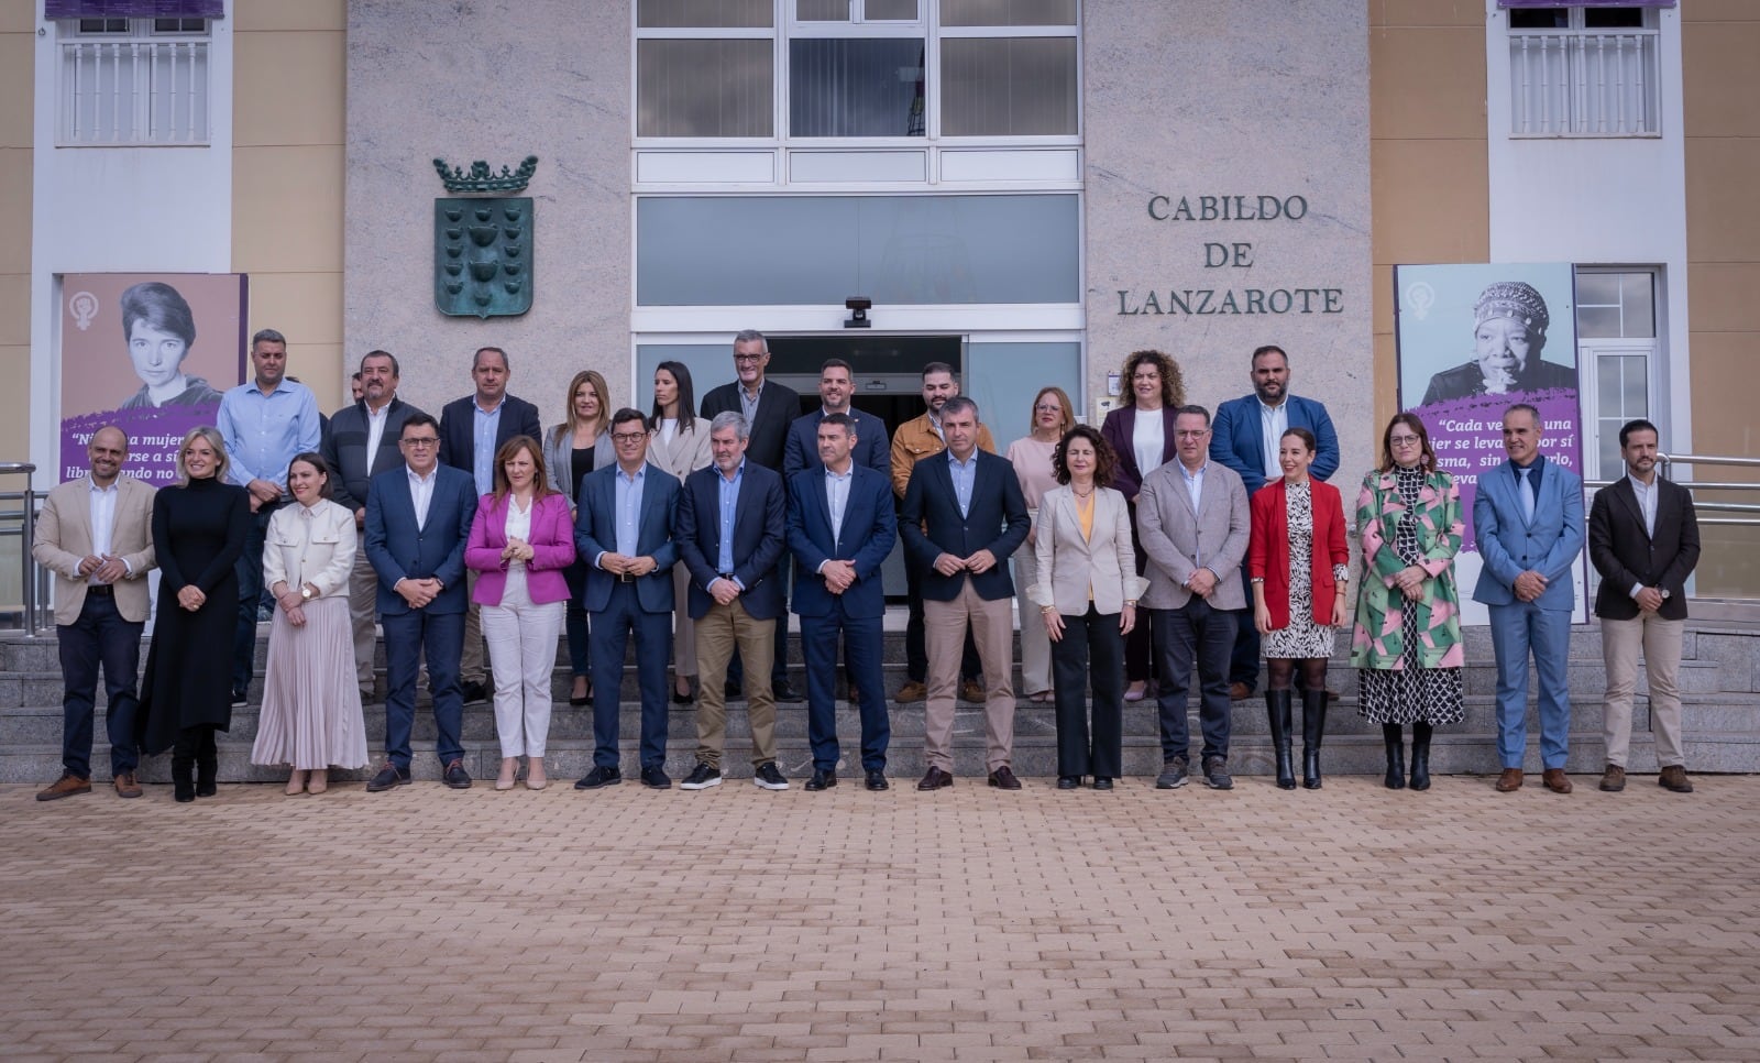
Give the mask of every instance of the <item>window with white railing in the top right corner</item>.
POLYGON ((1507 14, 1512 136, 1661 134, 1654 5, 1512 5, 1507 14))

